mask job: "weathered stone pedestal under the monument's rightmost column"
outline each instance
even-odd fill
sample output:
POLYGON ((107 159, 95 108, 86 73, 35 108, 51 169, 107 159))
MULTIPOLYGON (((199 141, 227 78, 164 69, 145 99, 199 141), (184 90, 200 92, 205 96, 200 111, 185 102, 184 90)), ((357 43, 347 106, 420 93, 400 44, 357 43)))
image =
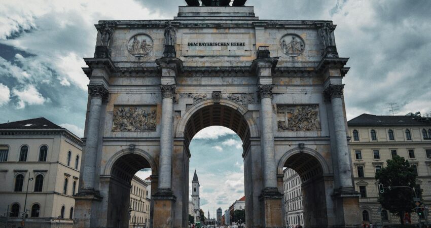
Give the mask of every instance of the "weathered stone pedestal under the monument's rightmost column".
POLYGON ((361 194, 352 187, 339 188, 334 191, 332 199, 336 209, 336 225, 334 227, 361 227, 359 197, 361 194))

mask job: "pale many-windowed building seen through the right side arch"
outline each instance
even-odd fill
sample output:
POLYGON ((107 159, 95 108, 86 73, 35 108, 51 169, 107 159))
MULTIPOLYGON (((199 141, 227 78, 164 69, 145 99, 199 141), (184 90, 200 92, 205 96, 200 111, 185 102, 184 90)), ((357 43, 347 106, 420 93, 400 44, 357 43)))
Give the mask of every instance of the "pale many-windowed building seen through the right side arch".
POLYGON ((283 171, 286 225, 304 225, 301 178, 293 169, 283 171))

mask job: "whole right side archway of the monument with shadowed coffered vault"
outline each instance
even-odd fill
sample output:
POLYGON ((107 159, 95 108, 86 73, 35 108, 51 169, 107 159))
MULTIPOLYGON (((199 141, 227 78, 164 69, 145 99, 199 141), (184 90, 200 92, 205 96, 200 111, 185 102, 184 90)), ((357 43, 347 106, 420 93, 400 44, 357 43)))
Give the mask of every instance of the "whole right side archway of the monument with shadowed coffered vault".
POLYGON ((324 174, 326 163, 316 151, 289 151, 282 158, 286 223, 304 227, 328 225, 324 174))

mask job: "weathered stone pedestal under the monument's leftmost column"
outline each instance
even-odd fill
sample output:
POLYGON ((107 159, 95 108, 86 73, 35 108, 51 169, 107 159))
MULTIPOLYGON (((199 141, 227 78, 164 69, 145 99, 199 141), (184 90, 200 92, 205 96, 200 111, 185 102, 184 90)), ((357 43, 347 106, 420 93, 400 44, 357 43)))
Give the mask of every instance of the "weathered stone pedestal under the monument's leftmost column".
POLYGON ((74 195, 75 198, 75 224, 74 227, 93 227, 97 220, 95 207, 102 201, 103 197, 94 189, 81 189, 74 195), (93 221, 93 222, 92 222, 93 221))

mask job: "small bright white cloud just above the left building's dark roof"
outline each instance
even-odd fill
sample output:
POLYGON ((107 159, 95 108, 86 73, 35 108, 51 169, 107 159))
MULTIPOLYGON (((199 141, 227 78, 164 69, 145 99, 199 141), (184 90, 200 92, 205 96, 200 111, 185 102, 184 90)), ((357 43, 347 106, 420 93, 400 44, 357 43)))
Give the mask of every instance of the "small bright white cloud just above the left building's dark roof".
POLYGON ((41 93, 34 87, 34 85, 28 85, 22 90, 13 89, 12 94, 18 98, 17 108, 24 108, 26 104, 44 104, 49 102, 49 98, 45 98, 41 93))

